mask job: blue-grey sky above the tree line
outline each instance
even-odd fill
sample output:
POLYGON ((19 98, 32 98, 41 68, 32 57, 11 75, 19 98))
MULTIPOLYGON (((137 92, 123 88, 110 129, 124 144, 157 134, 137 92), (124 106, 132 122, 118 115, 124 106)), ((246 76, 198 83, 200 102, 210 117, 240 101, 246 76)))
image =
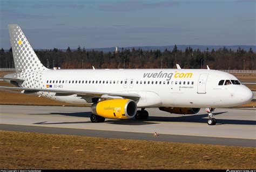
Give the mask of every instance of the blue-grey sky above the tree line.
POLYGON ((0 0, 0 48, 18 24, 33 48, 256 45, 256 0, 0 0))

